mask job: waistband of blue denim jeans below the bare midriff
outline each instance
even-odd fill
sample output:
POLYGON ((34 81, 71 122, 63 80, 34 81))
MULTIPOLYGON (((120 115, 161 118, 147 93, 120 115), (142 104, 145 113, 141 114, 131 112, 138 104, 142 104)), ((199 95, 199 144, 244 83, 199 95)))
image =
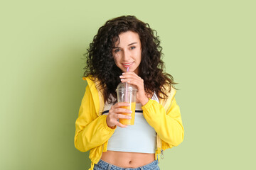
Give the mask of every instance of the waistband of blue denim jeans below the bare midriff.
POLYGON ((160 170, 160 169, 158 166, 158 162, 156 160, 154 162, 151 162, 150 164, 146 164, 139 168, 132 169, 132 168, 121 168, 118 166, 114 166, 100 159, 100 161, 97 164, 95 164, 93 170, 160 170))

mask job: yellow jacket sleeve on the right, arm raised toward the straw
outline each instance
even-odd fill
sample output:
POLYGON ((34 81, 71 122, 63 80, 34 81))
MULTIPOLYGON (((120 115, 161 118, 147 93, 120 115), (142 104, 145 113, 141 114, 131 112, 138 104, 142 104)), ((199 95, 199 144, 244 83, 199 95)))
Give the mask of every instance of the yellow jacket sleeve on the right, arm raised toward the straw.
POLYGON ((181 113, 175 98, 167 111, 164 106, 151 99, 142 106, 142 110, 144 118, 156 130, 161 140, 173 146, 178 146, 183 141, 181 113))

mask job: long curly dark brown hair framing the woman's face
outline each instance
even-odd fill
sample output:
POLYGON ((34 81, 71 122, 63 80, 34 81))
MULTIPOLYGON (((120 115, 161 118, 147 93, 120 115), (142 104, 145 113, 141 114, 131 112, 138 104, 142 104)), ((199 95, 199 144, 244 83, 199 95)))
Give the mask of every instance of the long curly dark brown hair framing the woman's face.
POLYGON ((135 16, 113 18, 100 27, 85 54, 87 65, 84 68, 84 77, 90 76, 91 79, 97 78, 100 81, 97 88, 102 91, 105 102, 112 102, 110 94, 117 98, 115 89, 120 83, 119 75, 122 70, 114 63, 112 49, 114 42, 119 40, 119 34, 129 30, 138 33, 141 40, 142 62, 139 64, 139 77, 144 79, 145 92, 153 94, 155 91, 159 98, 166 98, 167 89, 164 84, 171 87, 176 83, 170 74, 164 72, 159 36, 148 23, 139 21, 135 16))

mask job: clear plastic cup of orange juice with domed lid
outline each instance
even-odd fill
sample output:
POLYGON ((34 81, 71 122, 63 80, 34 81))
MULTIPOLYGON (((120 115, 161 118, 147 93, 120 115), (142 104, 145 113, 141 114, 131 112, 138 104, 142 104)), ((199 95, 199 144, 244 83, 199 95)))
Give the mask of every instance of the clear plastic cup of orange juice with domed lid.
POLYGON ((120 118, 119 123, 123 125, 134 125, 135 118, 135 108, 136 108, 136 93, 137 88, 132 84, 120 83, 117 86, 117 102, 129 103, 129 106, 122 106, 121 108, 126 108, 132 111, 132 113, 121 113, 123 115, 129 115, 132 119, 120 118))

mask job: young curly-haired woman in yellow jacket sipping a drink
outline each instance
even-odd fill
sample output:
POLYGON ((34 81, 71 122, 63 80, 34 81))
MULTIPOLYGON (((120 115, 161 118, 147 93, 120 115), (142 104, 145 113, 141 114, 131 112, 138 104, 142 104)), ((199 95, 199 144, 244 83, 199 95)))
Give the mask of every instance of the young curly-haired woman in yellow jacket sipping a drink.
POLYGON ((159 154, 183 141, 181 114, 173 77, 164 73, 156 31, 135 16, 107 21, 87 50, 87 80, 75 147, 90 150, 92 169, 159 169, 159 154), (129 67, 129 72, 127 72, 129 67), (127 103, 117 103, 117 85, 137 87, 134 125, 119 118, 127 103))

